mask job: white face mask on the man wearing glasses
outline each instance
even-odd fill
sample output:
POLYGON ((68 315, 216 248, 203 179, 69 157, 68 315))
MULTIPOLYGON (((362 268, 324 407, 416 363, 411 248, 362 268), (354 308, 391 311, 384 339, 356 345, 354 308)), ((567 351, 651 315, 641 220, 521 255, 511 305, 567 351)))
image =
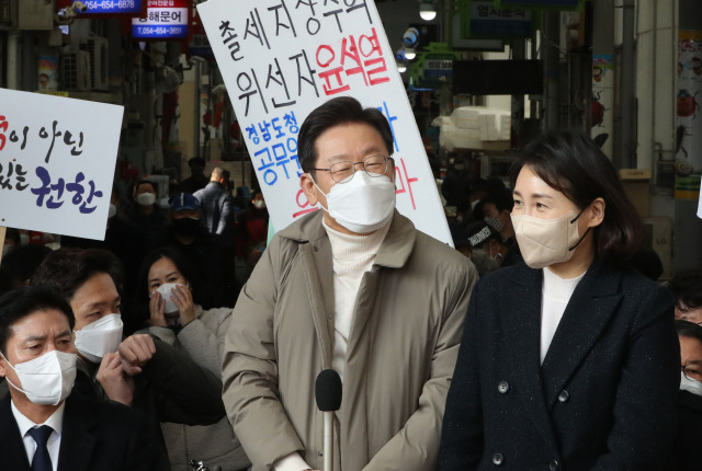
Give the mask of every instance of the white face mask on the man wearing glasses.
MULTIPOLYGON (((370 176, 358 171, 342 183, 337 183, 325 194, 329 212, 337 222, 355 233, 373 232, 393 218, 395 210, 395 183, 386 175, 370 176)), ((321 206, 321 205, 319 205, 321 206)))

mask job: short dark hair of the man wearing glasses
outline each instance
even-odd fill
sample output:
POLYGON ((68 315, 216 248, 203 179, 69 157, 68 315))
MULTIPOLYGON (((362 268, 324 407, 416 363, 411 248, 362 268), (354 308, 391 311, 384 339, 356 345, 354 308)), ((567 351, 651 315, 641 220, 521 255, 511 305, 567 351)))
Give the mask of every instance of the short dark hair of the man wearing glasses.
POLYGON ((388 157, 393 154, 393 130, 377 108, 364 108, 351 96, 331 99, 315 108, 303 123, 297 136, 297 159, 303 172, 314 172, 317 162, 317 138, 327 129, 344 124, 365 124, 383 139, 388 157))

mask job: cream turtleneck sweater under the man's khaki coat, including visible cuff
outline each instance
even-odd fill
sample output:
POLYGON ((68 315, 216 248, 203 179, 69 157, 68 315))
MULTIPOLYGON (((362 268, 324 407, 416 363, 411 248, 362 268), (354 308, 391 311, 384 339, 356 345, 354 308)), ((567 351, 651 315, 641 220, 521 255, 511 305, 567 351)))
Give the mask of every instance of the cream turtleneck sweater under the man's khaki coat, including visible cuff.
MULTIPOLYGON (((333 349, 331 367, 343 380, 347 366, 347 346, 353 324, 355 298, 361 287, 363 274, 369 272, 375 262, 377 251, 390 228, 388 221, 384 227, 367 236, 351 236, 321 225, 327 231, 331 244, 333 264, 333 349)), ((273 463, 274 471, 303 471, 310 469, 297 452, 273 463)))

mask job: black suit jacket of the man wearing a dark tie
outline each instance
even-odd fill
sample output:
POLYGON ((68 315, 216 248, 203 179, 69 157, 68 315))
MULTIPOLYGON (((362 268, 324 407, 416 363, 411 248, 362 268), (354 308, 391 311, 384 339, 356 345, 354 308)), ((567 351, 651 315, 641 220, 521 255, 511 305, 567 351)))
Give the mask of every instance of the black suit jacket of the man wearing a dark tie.
MULTIPOLYGON (((66 400, 58 471, 166 471, 161 447, 138 411, 77 393, 66 400)), ((0 401, 0 469, 30 471, 10 394, 0 401)))

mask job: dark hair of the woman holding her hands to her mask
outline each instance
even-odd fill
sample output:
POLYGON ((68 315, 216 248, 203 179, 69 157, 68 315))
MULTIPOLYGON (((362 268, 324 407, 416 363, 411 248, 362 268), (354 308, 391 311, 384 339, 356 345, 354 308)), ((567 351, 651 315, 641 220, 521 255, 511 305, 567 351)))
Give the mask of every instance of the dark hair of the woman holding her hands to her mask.
POLYGON ((181 251, 172 246, 156 249, 149 252, 141 263, 133 300, 134 302, 125 319, 125 331, 128 333, 143 329, 150 317, 148 296, 149 271, 151 269, 151 265, 161 259, 168 259, 173 262, 176 268, 178 268, 181 275, 183 275, 188 280, 193 295, 193 302, 206 306, 207 287, 202 282, 202 274, 197 272, 190 260, 188 260, 181 251))

